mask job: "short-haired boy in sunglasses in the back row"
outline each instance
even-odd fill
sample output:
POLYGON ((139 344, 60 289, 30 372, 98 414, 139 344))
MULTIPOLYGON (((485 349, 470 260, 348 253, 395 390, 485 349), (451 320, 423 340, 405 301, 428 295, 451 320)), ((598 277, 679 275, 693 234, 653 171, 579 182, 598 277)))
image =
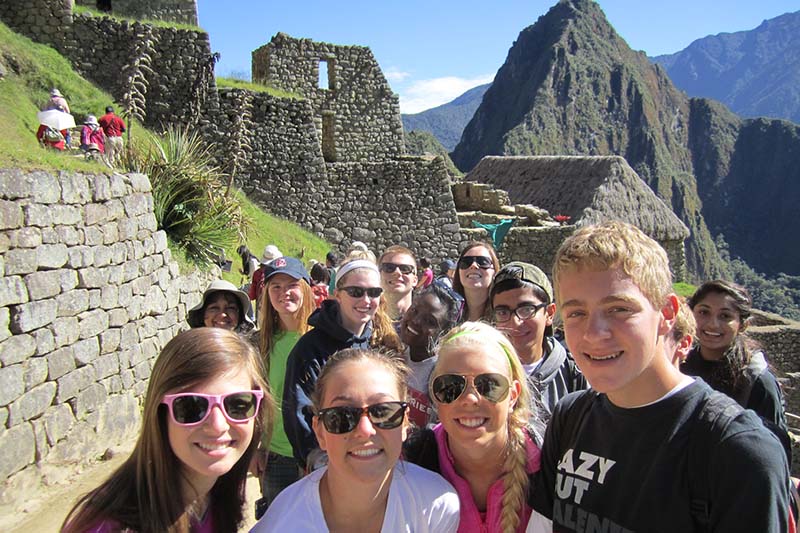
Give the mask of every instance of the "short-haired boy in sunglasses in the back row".
POLYGON ((390 246, 378 259, 378 268, 389 317, 399 323, 403 313, 411 307, 412 293, 417 286, 417 259, 405 246, 390 246))

